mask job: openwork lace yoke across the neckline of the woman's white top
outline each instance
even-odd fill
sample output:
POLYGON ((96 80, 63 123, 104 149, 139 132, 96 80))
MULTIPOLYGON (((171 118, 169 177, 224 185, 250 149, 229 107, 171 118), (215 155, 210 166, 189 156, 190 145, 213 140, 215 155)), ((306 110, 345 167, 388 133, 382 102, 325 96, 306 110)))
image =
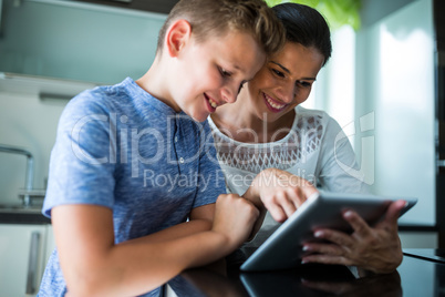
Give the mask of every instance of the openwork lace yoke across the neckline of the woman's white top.
POLYGON ((320 115, 299 117, 297 114, 288 135, 271 143, 240 143, 210 126, 220 164, 256 174, 268 167, 288 170, 304 163, 320 147, 323 134, 320 115))

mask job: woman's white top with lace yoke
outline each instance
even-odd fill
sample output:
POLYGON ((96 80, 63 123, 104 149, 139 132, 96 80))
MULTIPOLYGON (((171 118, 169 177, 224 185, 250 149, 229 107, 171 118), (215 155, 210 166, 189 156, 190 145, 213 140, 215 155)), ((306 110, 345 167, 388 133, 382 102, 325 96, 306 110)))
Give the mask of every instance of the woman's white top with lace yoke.
MULTIPOLYGON (((337 121, 323 111, 301 106, 296 107, 296 113, 287 136, 269 143, 235 141, 208 117, 228 192, 242 195, 260 171, 276 167, 324 191, 369 193, 352 146, 337 121)), ((275 225, 267 216, 261 231, 275 225)))

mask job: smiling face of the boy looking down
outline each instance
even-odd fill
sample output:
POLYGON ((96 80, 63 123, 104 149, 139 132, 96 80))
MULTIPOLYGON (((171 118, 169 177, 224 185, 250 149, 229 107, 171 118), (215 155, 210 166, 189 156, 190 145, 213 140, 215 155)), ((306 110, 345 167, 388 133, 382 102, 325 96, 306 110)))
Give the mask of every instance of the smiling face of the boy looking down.
POLYGON ((235 102, 241 84, 252 79, 265 61, 266 54, 247 33, 231 31, 199 43, 192 35, 177 55, 174 103, 203 122, 218 106, 235 102))

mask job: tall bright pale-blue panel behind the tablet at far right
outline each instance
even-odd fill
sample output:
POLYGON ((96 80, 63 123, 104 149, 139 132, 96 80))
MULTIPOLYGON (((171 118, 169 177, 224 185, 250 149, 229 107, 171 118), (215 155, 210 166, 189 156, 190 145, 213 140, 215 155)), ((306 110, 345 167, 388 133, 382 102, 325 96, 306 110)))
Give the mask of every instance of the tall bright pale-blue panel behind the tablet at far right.
POLYGON ((417 197, 402 224, 435 224, 432 1, 416 0, 358 34, 356 117, 373 112, 376 194, 417 197))

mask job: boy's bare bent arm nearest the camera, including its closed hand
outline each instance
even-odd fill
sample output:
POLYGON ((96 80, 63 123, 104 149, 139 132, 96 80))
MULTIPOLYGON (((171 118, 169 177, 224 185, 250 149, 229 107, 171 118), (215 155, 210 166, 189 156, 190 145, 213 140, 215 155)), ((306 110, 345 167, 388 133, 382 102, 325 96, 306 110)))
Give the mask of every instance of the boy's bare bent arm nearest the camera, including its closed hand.
POLYGON ((115 245, 110 208, 95 205, 54 207, 52 222, 69 294, 141 295, 185 268, 226 256, 247 238, 258 211, 237 195, 221 195, 217 209, 211 231, 192 232, 165 240, 139 238, 115 245))

